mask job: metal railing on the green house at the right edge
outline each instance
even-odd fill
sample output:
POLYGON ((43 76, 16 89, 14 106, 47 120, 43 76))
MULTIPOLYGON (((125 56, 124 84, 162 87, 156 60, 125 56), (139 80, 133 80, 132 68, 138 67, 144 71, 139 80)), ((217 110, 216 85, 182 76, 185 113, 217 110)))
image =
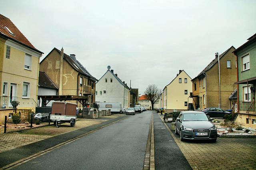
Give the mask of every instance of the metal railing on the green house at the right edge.
POLYGON ((238 101, 238 113, 256 115, 255 101, 238 101))

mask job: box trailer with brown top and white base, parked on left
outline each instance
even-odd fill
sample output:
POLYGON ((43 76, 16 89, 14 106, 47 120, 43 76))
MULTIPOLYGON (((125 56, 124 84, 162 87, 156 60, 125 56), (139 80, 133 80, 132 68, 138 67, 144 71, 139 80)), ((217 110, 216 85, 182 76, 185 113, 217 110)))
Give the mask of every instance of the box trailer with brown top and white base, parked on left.
POLYGON ((77 104, 70 102, 52 102, 52 113, 50 120, 56 127, 60 127, 61 122, 70 123, 71 127, 76 125, 77 104))

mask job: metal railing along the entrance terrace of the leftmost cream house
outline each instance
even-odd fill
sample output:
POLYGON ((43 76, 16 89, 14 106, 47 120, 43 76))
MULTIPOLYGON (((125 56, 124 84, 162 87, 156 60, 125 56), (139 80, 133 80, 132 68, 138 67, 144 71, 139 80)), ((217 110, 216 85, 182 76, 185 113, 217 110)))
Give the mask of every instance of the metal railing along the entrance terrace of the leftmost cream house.
POLYGON ((11 102, 20 102, 17 106, 19 108, 35 108, 38 105, 32 98, 21 98, 21 97, 10 97, 10 96, 0 96, 0 108, 13 108, 11 102))

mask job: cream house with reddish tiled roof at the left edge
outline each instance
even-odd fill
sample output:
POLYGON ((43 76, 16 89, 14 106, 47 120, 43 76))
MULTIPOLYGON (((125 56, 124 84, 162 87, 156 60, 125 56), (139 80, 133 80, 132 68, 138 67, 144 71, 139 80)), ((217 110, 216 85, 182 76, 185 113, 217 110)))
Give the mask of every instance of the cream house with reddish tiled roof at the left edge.
POLYGON ((0 14, 1 122, 5 115, 13 113, 13 101, 19 102, 17 109, 35 110, 42 54, 10 19, 0 14))

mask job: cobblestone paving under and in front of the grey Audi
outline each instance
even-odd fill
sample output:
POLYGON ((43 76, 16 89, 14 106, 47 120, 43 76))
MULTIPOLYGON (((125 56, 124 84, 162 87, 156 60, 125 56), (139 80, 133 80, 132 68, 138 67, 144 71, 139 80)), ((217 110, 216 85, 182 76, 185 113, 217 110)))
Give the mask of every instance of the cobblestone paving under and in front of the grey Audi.
MULTIPOLYGON (((166 125, 171 129, 171 123, 166 125)), ((180 135, 170 133, 194 170, 256 169, 256 137, 218 138, 216 143, 181 142, 180 135)))

